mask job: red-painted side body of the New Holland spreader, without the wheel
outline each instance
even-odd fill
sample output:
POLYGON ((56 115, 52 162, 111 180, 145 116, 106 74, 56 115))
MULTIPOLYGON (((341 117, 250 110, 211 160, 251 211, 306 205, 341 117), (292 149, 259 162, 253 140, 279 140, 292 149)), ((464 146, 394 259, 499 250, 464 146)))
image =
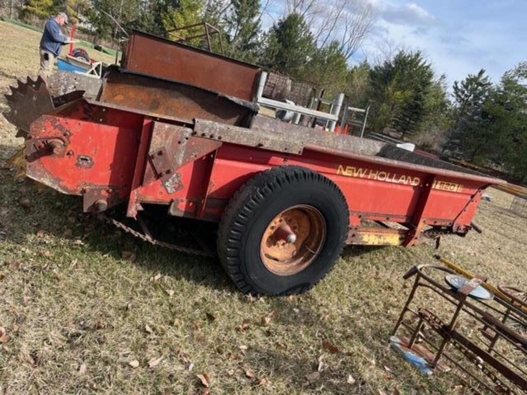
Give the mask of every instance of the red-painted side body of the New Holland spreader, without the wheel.
MULTIPOLYGON (((255 174, 284 164, 307 167, 343 192, 352 227, 348 242, 356 244, 414 245, 430 226, 466 233, 479 191, 489 183, 488 177, 420 163, 356 157, 348 152, 353 146, 340 140, 344 136, 300 140, 294 135, 291 141, 281 132, 262 136, 259 130, 214 126, 210 120, 196 120, 194 126, 163 122, 84 100, 38 118, 30 137, 28 176, 63 193, 84 195, 86 211, 129 200, 128 215, 133 217, 143 203, 156 203, 167 205, 172 215, 219 221, 227 202, 255 174), (53 139, 64 145, 56 155, 45 149, 53 139), (338 150, 309 148, 314 142, 330 146, 335 139, 338 150), (261 142, 263 149, 257 147, 261 142), (434 188, 437 179, 443 189, 434 188), (365 229, 366 221, 396 222, 405 228, 365 229)), ((378 148, 367 144, 358 151, 378 148)))

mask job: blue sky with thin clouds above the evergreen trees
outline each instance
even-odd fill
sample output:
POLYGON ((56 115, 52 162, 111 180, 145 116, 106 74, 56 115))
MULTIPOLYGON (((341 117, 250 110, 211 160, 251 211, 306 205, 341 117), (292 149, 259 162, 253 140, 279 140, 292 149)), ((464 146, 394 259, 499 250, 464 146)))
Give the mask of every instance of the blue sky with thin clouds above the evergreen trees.
MULTIPOLYGON (((480 68, 497 82, 506 70, 527 60, 527 0, 358 1, 374 7, 377 19, 352 63, 364 55, 373 60, 389 41, 422 50, 451 85, 480 68)), ((273 19, 279 17, 282 2, 276 0, 269 8, 273 19)))

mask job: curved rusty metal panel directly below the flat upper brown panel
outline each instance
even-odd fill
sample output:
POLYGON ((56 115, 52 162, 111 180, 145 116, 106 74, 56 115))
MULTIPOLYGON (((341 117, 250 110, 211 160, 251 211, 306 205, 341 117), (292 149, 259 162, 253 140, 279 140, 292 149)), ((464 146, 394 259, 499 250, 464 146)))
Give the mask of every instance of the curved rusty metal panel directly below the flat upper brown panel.
POLYGON ((100 101, 154 117, 178 117, 187 123, 191 123, 193 118, 203 118, 222 124, 241 125, 252 113, 250 108, 213 92, 116 70, 105 76, 100 101))

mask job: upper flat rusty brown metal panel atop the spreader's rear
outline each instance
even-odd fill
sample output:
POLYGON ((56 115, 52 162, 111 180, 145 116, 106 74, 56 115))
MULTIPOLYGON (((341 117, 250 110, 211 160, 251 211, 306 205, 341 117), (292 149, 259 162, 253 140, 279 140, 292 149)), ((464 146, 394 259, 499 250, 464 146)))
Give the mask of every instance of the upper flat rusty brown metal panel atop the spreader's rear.
POLYGON ((258 66, 148 33, 130 36, 121 68, 252 100, 258 66))

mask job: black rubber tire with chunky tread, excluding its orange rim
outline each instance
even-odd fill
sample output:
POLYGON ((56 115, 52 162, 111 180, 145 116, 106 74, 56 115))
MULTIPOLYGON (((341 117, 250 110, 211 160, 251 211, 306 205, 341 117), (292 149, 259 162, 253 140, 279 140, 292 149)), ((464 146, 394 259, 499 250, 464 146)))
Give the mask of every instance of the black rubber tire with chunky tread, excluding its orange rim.
POLYGON ((261 172, 232 197, 218 230, 219 259, 245 293, 287 295, 311 289, 333 268, 348 235, 346 199, 335 183, 298 166, 261 172), (318 258, 292 275, 269 271, 260 258, 260 241, 280 212, 298 204, 316 208, 326 221, 326 239, 318 258))

